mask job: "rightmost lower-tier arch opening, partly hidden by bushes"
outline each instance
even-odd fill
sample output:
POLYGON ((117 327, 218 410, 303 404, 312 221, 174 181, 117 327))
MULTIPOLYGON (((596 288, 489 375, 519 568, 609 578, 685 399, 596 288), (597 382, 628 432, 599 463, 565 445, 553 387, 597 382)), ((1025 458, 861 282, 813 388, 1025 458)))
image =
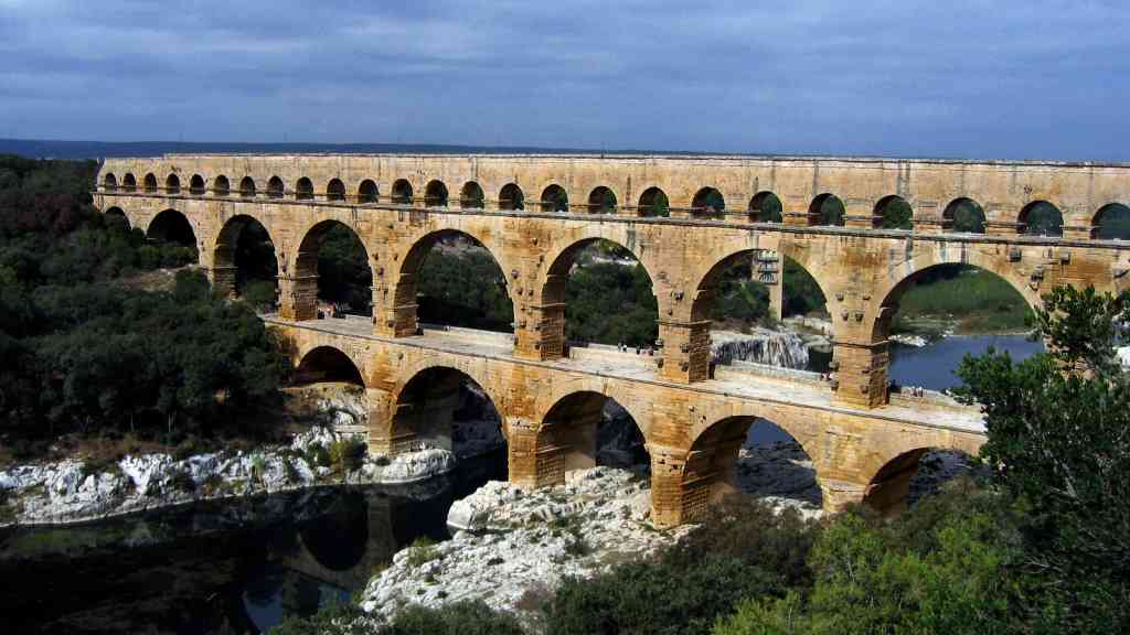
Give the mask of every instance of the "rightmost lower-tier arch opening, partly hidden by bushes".
POLYGON ((929 485, 920 482, 920 487, 913 488, 915 477, 921 471, 923 459, 932 452, 944 455, 948 454, 953 460, 957 454, 971 456, 975 454, 976 450, 972 447, 940 446, 922 446, 905 450, 889 459, 875 472, 863 494, 863 504, 884 515, 894 515, 904 511, 923 494, 928 494, 930 489, 937 488, 941 482, 951 480, 963 471, 970 471, 972 468, 970 464, 944 464, 940 478, 933 477, 930 479, 931 482, 929 485))

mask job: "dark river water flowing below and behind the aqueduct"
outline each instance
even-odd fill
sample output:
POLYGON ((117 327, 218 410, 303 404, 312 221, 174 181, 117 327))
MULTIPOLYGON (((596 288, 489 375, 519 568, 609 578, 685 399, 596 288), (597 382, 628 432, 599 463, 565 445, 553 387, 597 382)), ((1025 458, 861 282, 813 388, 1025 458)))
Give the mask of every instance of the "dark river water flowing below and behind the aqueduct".
MULTIPOLYGON (((1043 349, 1023 336, 895 346, 890 377, 951 388, 962 358, 990 346, 1014 359, 1043 349)), ((790 437, 757 424, 749 438, 790 437)), ((417 538, 445 538, 451 503, 505 473, 503 450, 416 488, 319 488, 0 532, 0 633, 264 633, 348 599, 417 538)))

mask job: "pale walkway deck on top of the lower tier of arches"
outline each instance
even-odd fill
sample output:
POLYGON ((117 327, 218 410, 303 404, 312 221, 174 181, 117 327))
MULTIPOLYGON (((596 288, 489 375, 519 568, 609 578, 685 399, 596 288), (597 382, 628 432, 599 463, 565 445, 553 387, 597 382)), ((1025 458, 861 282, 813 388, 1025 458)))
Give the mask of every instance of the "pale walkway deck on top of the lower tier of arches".
POLYGON ((497 359, 508 364, 541 366, 736 399, 862 415, 955 432, 974 434, 984 434, 985 432, 984 421, 975 409, 960 407, 956 402, 946 403, 945 398, 939 398, 935 402, 893 399, 892 403, 879 408, 857 409, 834 403, 832 391, 819 381, 780 376, 777 373, 762 372, 753 367, 723 366, 720 367, 715 379, 693 384, 679 384, 660 377, 654 357, 636 355, 635 353, 620 353, 597 347, 574 347, 571 349, 568 358, 541 362, 513 355, 512 336, 507 333, 472 329, 424 329, 420 336, 388 338, 374 334, 373 324, 367 318, 294 322, 282 320, 276 314, 268 314, 263 316, 263 321, 270 324, 383 341, 397 346, 425 348, 449 355, 497 359))

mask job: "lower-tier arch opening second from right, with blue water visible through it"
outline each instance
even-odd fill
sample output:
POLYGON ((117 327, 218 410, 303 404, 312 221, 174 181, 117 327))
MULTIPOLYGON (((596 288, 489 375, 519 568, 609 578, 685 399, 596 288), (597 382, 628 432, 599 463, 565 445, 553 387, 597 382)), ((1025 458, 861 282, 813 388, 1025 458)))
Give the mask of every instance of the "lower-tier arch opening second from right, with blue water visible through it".
MULTIPOLYGON (((699 515, 705 504, 716 502, 737 490, 759 496, 789 496, 824 506, 816 461, 801 441, 805 430, 792 428, 788 419, 780 423, 755 415, 736 415, 720 419, 694 437, 683 470, 685 498, 689 498, 689 516, 699 515), (745 450, 745 452, 744 452, 745 450), (772 460, 777 470, 788 471, 783 480, 758 478, 762 462, 772 460), (810 478, 811 484, 798 488, 810 478)), ((775 470, 776 471, 776 470, 775 470)), ((690 520, 690 519, 688 519, 690 520)))

